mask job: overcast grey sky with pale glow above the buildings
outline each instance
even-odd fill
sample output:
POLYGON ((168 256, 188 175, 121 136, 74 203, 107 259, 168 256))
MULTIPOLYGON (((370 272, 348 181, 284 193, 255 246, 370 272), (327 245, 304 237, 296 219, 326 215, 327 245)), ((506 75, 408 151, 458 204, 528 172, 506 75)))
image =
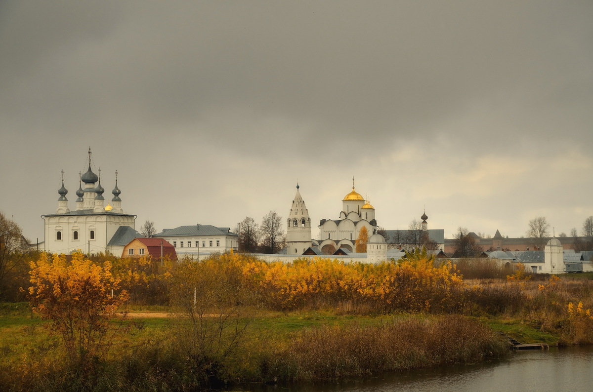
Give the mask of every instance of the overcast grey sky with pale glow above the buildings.
MULTIPOLYGON (((0 210, 106 200, 158 230, 311 219, 556 234, 593 215, 593 2, 2 1, 0 210)), ((314 228, 317 237, 318 230, 314 228)))

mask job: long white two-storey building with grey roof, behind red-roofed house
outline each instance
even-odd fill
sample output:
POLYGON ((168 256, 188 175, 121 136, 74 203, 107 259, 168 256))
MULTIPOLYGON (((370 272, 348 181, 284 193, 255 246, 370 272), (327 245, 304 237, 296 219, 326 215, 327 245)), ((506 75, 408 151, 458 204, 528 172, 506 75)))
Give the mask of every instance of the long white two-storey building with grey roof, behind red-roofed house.
POLYGON ((211 253, 237 251, 238 236, 229 227, 216 227, 209 224, 179 226, 175 229, 163 229, 155 237, 164 238, 172 243, 178 258, 190 256, 202 259, 211 253))

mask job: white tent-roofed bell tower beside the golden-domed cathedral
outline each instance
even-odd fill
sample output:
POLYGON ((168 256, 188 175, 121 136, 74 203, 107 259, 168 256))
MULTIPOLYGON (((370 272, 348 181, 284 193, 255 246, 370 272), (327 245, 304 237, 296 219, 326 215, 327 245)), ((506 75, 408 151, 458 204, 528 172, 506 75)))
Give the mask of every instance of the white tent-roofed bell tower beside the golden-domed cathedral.
POLYGON ((292 200, 291 210, 288 213, 286 227, 286 254, 288 255, 302 255, 311 246, 311 218, 299 188, 297 184, 297 194, 292 200))

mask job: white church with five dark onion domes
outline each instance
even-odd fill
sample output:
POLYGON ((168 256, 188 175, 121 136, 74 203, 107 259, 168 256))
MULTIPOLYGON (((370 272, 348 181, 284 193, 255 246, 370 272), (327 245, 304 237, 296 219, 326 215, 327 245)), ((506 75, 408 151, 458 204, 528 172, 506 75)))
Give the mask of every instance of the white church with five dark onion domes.
POLYGON ((76 205, 70 210, 64 185, 62 171, 62 187, 58 190, 58 208, 55 214, 43 215, 44 250, 52 253, 72 253, 76 250, 87 254, 110 252, 120 255, 123 246, 130 237, 139 237, 135 230, 135 215, 126 214, 122 210, 122 193, 115 187, 111 193, 111 203, 105 205, 100 176, 91 169, 91 149, 88 150, 88 170, 79 177, 79 188, 76 191, 76 205), (84 188, 82 184, 84 183, 84 188), (95 185, 96 184, 96 185, 95 185))

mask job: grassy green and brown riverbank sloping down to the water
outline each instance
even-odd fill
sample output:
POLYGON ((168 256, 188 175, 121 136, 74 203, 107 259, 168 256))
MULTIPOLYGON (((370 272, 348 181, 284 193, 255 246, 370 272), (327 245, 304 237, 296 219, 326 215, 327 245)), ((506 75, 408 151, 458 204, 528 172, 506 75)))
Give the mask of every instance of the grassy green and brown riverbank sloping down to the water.
MULTIPOLYGON (((483 323, 463 316, 263 312, 222 329, 219 320, 210 318, 199 331, 179 317, 129 317, 112 323, 107 355, 93 374, 81 378, 63 360, 60 340, 46 329, 49 323, 33 316, 24 304, 6 308, 0 326, 2 390, 192 390, 242 382, 281 384, 508 355, 506 342, 483 323), (209 335, 208 326, 222 330, 221 338, 199 339, 196 332, 209 335), (240 336, 237 330, 243 331, 240 336)), ((156 310, 158 316, 167 313, 162 307, 156 310)))

